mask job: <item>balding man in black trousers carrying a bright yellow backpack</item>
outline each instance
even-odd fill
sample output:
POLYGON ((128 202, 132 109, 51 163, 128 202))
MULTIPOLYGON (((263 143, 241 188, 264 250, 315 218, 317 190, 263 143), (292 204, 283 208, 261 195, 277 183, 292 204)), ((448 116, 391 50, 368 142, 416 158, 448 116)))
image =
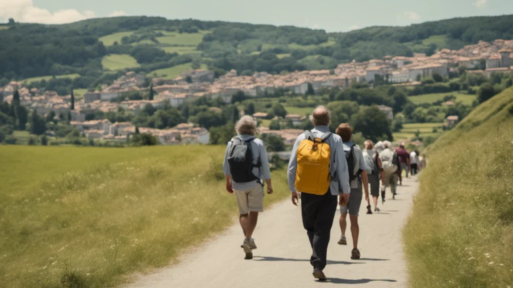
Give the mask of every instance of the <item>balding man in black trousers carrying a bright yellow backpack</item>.
POLYGON ((349 174, 342 139, 329 132, 329 110, 319 106, 313 110, 310 121, 313 130, 299 135, 292 148, 288 184, 294 205, 298 205, 301 192, 303 227, 312 248, 312 274, 315 279, 324 281, 323 270, 337 204, 349 200, 349 174), (339 191, 343 193, 340 196, 339 191))

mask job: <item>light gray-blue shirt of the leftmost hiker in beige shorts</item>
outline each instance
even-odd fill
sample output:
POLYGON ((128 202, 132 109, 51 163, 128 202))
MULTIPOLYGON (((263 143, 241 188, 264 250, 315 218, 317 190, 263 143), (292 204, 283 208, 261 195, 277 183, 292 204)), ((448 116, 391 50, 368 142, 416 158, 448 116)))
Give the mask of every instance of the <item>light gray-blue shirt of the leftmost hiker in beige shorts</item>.
MULTIPOLYGON (((243 141, 247 141, 251 138, 254 138, 254 136, 251 135, 237 135, 236 138, 240 138, 243 141)), ((230 167, 228 166, 228 153, 231 150, 232 141, 228 142, 228 146, 226 147, 225 152, 225 160, 223 163, 223 172, 225 175, 231 176, 230 173, 230 167)), ((253 152, 253 164, 257 164, 260 160, 261 168, 258 167, 253 168, 253 174, 257 176, 261 181, 262 178, 265 180, 271 178, 271 172, 269 171, 269 161, 267 160, 267 151, 265 150, 264 142, 260 140, 259 138, 255 138, 251 143, 251 151, 253 152)), ((231 180, 233 189, 239 190, 239 191, 247 191, 250 189, 255 188, 257 185, 260 185, 256 180, 251 182, 245 182, 245 183, 237 183, 231 180)), ((263 183, 263 182, 262 182, 263 183)))

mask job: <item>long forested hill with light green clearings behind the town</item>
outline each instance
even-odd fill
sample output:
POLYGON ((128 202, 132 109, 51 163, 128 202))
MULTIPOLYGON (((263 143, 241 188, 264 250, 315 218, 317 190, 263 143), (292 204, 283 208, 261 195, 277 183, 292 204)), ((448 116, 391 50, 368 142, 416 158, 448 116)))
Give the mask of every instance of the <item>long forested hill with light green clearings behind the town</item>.
POLYGON ((436 49, 459 49, 497 38, 513 38, 513 15, 347 33, 146 16, 65 25, 15 23, 0 26, 0 85, 12 79, 80 75, 73 86, 89 88, 98 78, 114 78, 126 69, 156 74, 170 67, 202 66, 217 74, 230 69, 243 74, 332 69, 352 59, 429 55, 436 49))

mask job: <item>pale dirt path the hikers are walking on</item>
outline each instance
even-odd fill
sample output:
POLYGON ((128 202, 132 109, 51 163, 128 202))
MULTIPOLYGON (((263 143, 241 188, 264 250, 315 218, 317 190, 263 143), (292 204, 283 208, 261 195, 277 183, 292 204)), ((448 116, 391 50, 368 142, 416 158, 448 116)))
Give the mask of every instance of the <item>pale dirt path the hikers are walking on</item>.
MULTIPOLYGON (((412 196, 417 192, 415 178, 404 179, 399 195, 387 195, 380 214, 366 215, 360 210, 362 259, 351 260, 352 240, 348 225, 347 246, 337 244, 340 237, 337 213, 331 230, 328 266, 324 270, 329 283, 353 284, 351 287, 405 287, 401 229, 410 212, 412 196)), ((388 189, 387 189, 388 190, 388 189)), ((389 191, 387 191, 389 192, 389 191)), ((235 201, 235 199, 233 199, 235 201)), ((348 219, 349 220, 349 219, 348 219)), ((239 224, 219 237, 181 257, 181 263, 153 274, 137 277, 130 288, 181 287, 317 287, 309 263, 311 249, 302 227, 301 210, 290 200, 274 205, 263 214, 254 232, 258 249, 253 260, 244 260, 239 224)))

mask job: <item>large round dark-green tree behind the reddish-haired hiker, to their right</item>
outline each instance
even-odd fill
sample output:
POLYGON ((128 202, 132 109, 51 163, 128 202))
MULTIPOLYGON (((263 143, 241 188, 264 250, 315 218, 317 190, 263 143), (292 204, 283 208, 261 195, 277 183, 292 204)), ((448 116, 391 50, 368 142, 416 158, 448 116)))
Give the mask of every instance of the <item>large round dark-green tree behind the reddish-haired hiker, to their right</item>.
POLYGON ((376 106, 364 107, 351 116, 354 132, 361 132, 366 139, 374 142, 380 139, 392 140, 390 121, 386 114, 376 106))

